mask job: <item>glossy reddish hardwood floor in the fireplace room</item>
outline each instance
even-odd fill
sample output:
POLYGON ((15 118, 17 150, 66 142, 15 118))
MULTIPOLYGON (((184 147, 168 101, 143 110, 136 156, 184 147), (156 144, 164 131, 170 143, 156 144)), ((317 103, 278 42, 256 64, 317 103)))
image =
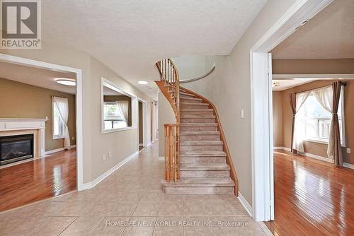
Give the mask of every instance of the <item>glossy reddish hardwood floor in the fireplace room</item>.
POLYGON ((76 149, 0 169, 0 212, 76 189, 76 149))

